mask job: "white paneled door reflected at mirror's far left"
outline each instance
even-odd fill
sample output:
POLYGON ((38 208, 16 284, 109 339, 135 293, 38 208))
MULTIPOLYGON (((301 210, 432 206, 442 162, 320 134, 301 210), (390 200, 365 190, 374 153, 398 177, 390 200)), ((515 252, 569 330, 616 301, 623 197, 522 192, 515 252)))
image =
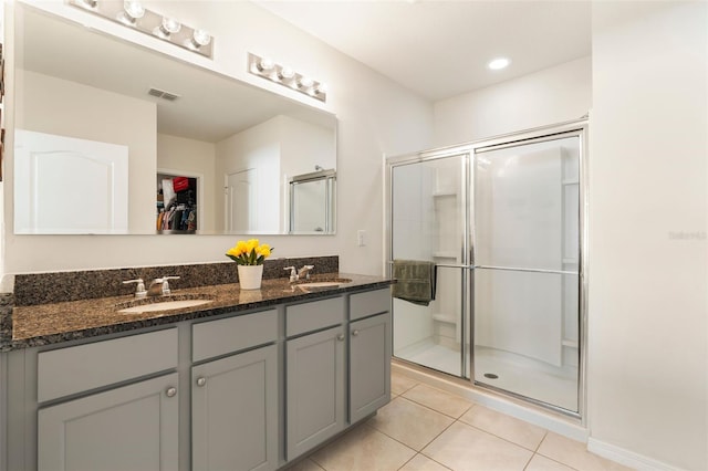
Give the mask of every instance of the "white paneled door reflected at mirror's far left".
POLYGON ((15 129, 14 232, 127 233, 128 148, 15 129))

